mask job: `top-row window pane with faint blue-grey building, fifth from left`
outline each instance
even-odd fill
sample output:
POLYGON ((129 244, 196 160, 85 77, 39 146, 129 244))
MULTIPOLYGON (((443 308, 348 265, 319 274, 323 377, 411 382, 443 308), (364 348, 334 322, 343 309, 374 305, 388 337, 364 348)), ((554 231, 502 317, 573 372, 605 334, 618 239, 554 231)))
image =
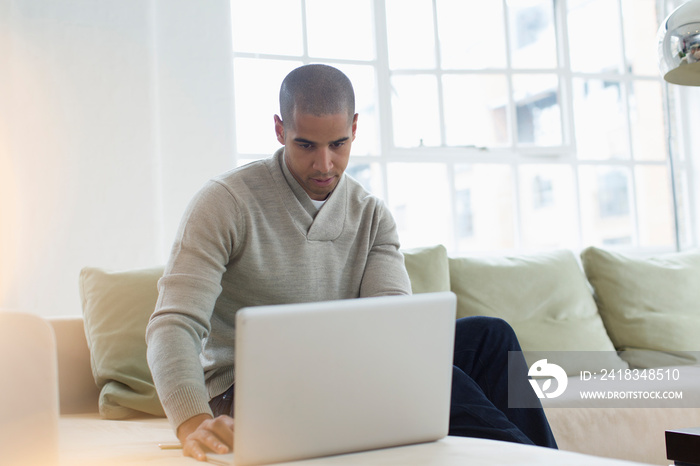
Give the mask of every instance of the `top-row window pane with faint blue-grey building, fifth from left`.
POLYGON ((552 0, 508 0, 511 59, 514 68, 557 66, 552 0))

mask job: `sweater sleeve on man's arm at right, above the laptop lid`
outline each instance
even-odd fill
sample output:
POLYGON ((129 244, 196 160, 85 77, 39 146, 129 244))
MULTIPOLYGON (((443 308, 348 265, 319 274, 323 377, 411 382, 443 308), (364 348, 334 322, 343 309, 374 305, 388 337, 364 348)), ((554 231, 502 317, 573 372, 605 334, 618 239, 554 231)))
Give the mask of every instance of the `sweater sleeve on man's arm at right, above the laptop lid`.
POLYGON ((367 256, 360 297, 410 295, 411 282, 399 250, 396 222, 384 203, 378 202, 373 221, 376 233, 367 256))

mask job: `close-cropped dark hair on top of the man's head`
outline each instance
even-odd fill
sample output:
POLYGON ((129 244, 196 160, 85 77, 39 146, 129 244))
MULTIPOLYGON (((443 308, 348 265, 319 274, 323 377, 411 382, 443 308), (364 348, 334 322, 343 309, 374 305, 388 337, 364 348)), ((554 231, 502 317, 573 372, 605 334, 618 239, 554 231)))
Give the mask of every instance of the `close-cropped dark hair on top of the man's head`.
POLYGON ((280 88, 280 114, 285 126, 294 124, 295 111, 315 116, 346 112, 351 122, 355 114, 352 83, 332 66, 299 67, 284 78, 280 88))

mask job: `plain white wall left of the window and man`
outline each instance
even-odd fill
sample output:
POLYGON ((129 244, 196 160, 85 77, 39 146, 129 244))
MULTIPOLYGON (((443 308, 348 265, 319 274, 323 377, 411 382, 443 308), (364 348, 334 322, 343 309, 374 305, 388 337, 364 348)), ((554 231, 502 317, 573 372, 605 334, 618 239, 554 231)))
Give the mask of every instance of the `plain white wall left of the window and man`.
POLYGON ((233 165, 225 0, 0 0, 0 308, 80 313, 83 266, 164 262, 233 165))

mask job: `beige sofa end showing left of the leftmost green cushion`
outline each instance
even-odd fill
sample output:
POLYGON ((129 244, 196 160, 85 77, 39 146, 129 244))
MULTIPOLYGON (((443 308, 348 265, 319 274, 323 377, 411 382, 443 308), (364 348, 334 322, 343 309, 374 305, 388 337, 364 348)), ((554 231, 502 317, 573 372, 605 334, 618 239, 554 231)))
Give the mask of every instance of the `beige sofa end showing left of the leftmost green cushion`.
POLYGON ((61 414, 96 413, 100 391, 95 385, 82 317, 47 319, 56 335, 61 414))

